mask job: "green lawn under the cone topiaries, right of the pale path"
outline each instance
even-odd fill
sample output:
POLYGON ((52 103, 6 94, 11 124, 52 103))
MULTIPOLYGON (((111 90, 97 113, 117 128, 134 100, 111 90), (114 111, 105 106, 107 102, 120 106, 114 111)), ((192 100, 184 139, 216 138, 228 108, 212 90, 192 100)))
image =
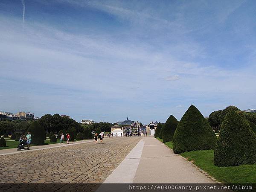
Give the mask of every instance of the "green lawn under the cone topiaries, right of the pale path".
MULTIPOLYGON (((162 139, 156 138, 163 143, 162 139)), ((172 149, 172 142, 164 143, 172 149)), ((214 165, 214 150, 189 151, 180 154, 222 183, 256 183, 256 164, 230 167, 214 165)))

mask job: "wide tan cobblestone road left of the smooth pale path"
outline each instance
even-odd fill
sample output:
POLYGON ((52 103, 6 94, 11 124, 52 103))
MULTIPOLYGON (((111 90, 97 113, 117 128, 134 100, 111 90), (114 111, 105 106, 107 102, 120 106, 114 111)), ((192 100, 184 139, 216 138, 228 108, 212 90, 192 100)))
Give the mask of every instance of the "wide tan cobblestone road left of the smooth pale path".
POLYGON ((103 183, 141 137, 0 156, 0 183, 103 183))

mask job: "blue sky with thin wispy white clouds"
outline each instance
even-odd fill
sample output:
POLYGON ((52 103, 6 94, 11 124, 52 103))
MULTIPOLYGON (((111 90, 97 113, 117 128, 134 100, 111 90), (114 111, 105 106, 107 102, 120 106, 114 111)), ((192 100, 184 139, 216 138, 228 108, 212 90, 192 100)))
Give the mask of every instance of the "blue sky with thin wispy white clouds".
POLYGON ((256 108, 256 2, 0 1, 0 111, 96 122, 256 108))

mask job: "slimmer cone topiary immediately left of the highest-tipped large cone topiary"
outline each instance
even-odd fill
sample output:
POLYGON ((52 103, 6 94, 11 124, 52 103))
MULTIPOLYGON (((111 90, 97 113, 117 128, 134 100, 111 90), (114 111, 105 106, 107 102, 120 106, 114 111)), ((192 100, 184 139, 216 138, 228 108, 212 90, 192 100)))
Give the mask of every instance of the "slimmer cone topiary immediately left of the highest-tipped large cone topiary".
POLYGON ((170 115, 169 118, 166 120, 166 123, 164 124, 162 133, 163 143, 172 141, 177 125, 178 120, 174 116, 170 115))

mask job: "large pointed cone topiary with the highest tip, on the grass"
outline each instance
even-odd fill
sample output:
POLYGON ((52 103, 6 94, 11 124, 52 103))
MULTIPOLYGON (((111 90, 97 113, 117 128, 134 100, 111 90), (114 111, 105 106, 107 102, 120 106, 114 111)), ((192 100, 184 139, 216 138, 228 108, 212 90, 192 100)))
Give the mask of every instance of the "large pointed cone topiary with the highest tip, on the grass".
POLYGON ((217 137, 204 116, 191 105, 177 125, 173 137, 173 151, 214 149, 217 137))

